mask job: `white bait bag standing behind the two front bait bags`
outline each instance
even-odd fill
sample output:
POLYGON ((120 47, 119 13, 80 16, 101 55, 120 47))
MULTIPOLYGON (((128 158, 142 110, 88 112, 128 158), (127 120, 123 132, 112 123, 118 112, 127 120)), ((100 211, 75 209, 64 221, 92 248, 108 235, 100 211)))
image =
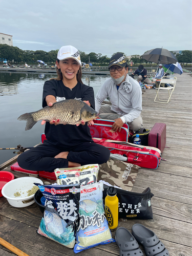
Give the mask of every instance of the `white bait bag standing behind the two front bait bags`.
POLYGON ((74 168, 57 168, 55 175, 58 185, 80 184, 90 185, 97 182, 98 164, 87 164, 74 168))

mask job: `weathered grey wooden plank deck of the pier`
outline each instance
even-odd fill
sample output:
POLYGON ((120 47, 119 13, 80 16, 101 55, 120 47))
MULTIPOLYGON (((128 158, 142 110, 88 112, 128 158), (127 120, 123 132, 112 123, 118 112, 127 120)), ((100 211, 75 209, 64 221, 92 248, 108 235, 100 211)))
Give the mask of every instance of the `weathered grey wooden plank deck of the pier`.
MULTIPOLYGON (((178 77, 171 102, 154 102, 154 89, 146 90, 143 96, 143 122, 146 129, 152 129, 156 122, 167 125, 167 142, 160 166, 155 169, 140 168, 132 191, 141 193, 150 187, 153 220, 119 221, 119 227, 131 231, 132 225, 140 223, 153 230, 164 243, 171 256, 191 256, 191 74, 178 77)), ((167 92, 166 92, 167 93, 167 92)), ((8 166, 7 169, 10 170, 8 166)), ((23 174, 13 172, 16 177, 23 174)), ((27 175, 26 175, 27 176, 27 175)), ((52 181, 54 182, 54 181, 52 181)), ((7 200, 0 198, 0 237, 30 256, 75 255, 66 248, 45 237, 36 229, 42 214, 34 203, 25 208, 14 208, 7 200)), ((112 232, 113 238, 115 233, 112 232)), ((140 245, 143 250, 143 247, 140 245)), ((14 255, 0 245, 1 256, 14 255)), ((79 256, 119 255, 116 243, 100 245, 78 253, 79 256)), ((144 254, 145 255, 145 254, 144 254)))

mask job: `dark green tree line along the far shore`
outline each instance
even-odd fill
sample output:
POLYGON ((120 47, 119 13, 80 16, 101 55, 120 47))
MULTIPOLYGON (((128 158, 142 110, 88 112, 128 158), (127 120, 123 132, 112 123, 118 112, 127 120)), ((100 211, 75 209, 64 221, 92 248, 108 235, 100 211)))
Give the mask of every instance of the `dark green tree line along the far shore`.
MULTIPOLYGON (((14 63, 36 63, 37 60, 42 60, 45 63, 52 64, 55 63, 57 59, 57 50, 51 50, 50 52, 45 52, 42 50, 37 51, 31 51, 31 50, 21 50, 18 47, 14 46, 8 46, 8 45, 2 45, 0 44, 0 62, 3 62, 5 59, 8 62, 14 61, 14 63)), ((94 66, 108 66, 110 58, 106 55, 102 56, 101 53, 95 53, 91 52, 89 54, 86 54, 85 52, 82 52, 79 50, 81 62, 82 63, 93 63, 94 66)), ((173 52, 174 53, 174 52, 173 52)), ((114 53, 115 54, 115 53, 114 53)), ((123 55, 126 56, 122 52, 123 55)), ((178 62, 180 63, 191 63, 191 51, 185 50, 182 51, 181 54, 174 53, 178 59, 178 62)), ((142 63, 152 63, 147 62, 145 59, 142 58, 142 56, 136 54, 132 55, 131 58, 127 58, 127 62, 131 63, 133 62, 134 65, 140 65, 142 63)))

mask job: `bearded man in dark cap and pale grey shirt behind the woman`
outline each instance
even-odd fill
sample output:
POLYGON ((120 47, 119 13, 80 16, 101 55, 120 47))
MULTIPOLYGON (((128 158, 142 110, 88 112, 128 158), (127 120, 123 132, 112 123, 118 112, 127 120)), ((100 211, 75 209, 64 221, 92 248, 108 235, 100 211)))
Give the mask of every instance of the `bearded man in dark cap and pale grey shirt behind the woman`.
POLYGON ((136 132, 143 126, 142 91, 139 83, 130 77, 129 66, 121 53, 116 53, 110 59, 108 66, 111 78, 103 83, 95 98, 95 110, 101 113, 114 113, 120 115, 114 119, 113 131, 121 130, 123 123, 128 123, 132 131, 136 132), (101 105, 106 97, 110 98, 112 105, 101 105))

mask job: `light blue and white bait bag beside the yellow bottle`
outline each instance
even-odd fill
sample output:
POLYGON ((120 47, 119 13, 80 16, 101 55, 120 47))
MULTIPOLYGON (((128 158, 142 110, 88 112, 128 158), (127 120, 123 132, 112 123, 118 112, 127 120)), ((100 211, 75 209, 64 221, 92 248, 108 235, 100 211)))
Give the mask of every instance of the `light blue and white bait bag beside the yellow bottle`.
POLYGON ((75 253, 99 244, 115 242, 104 215, 102 191, 102 182, 81 186, 75 253))

